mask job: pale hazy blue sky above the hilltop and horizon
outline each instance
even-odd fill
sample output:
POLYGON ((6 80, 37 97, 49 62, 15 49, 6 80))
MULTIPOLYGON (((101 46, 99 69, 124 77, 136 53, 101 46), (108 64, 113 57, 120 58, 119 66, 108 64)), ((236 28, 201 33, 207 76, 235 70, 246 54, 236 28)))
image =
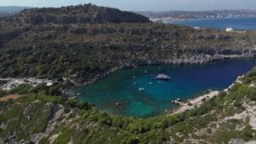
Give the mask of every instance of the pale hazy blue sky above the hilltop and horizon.
POLYGON ((135 11, 256 9, 256 0, 0 0, 0 6, 61 7, 80 3, 135 11))

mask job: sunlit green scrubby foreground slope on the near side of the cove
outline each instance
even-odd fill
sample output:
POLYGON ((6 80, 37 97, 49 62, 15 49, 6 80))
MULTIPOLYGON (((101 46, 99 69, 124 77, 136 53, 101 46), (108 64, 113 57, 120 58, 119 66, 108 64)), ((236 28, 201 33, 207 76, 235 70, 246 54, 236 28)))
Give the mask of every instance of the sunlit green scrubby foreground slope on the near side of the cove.
POLYGON ((2 98, 6 95, 19 98, 0 101, 0 142, 253 143, 256 140, 255 84, 254 68, 201 107, 154 118, 109 116, 86 103, 61 99, 54 90, 58 85, 37 88, 23 85, 9 92, 1 91, 2 98))

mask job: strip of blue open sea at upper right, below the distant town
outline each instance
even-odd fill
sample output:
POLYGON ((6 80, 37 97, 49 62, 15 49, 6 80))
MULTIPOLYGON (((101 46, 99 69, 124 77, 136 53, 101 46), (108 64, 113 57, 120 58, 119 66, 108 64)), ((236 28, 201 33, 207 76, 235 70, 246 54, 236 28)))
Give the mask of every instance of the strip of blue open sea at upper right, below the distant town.
POLYGON ((212 27, 218 29, 232 27, 236 30, 256 30, 256 17, 231 19, 175 20, 169 21, 168 23, 192 27, 212 27))

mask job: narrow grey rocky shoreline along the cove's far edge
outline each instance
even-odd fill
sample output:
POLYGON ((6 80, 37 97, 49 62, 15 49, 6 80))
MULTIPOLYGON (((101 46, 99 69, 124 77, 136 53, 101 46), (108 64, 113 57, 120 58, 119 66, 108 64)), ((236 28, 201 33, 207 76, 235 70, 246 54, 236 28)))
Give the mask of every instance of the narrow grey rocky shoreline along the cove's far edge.
MULTIPOLYGON (((93 84, 96 81, 106 78, 110 73, 116 72, 125 68, 134 68, 137 66, 144 66, 144 65, 172 65, 172 64, 203 64, 207 62, 211 62, 213 60, 224 60, 224 59, 234 59, 234 58, 249 58, 253 57, 254 55, 222 55, 222 54, 215 54, 215 55, 181 55, 180 57, 172 57, 170 59, 165 60, 138 60, 138 61, 131 61, 131 62, 124 62, 119 64, 119 66, 113 66, 109 68, 105 72, 97 73, 93 78, 90 80, 83 82, 79 75, 74 75, 74 77, 68 77, 67 79, 75 85, 84 85, 84 84, 93 84)), ((67 80, 66 79, 66 80, 67 80)))

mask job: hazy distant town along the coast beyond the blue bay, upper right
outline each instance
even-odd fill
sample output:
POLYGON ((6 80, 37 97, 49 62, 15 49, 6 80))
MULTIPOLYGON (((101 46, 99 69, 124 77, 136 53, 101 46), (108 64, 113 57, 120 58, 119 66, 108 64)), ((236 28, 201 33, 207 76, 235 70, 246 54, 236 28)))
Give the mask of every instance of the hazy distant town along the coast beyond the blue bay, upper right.
POLYGON ((166 11, 137 12, 147 16, 152 21, 167 22, 170 20, 188 19, 226 19, 256 16, 256 10, 212 10, 212 11, 166 11))

